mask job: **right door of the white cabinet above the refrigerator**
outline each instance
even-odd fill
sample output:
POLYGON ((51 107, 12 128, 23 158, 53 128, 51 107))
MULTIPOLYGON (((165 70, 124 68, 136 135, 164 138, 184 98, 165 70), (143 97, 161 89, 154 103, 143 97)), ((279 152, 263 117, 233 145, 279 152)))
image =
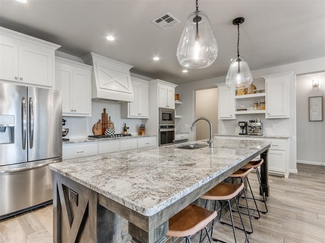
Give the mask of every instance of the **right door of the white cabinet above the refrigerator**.
POLYGON ((20 45, 18 48, 19 82, 52 87, 52 55, 54 55, 52 51, 42 47, 20 45))

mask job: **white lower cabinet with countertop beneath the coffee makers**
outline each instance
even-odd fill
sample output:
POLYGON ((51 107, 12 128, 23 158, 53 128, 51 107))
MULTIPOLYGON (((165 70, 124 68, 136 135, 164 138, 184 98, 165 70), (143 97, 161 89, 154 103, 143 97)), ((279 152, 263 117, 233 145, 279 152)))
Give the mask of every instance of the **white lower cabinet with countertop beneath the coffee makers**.
POLYGON ((264 140, 270 141, 271 147, 268 153, 268 169, 269 174, 281 175, 285 178, 289 177, 289 144, 288 139, 278 138, 258 138, 258 137, 234 137, 234 136, 215 136, 217 139, 246 139, 246 140, 264 140))

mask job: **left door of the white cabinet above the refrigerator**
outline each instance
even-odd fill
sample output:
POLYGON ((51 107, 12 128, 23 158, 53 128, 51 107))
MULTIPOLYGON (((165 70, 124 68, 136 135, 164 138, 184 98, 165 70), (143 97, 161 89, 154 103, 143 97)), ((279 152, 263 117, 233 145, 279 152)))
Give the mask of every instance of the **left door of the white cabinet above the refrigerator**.
POLYGON ((0 39, 0 79, 18 81, 18 45, 0 39))

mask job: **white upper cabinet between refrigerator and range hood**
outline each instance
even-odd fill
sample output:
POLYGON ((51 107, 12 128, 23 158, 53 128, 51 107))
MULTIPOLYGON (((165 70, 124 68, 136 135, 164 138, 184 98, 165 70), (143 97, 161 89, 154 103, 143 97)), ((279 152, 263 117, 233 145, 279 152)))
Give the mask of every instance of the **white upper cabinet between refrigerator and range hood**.
POLYGON ((83 63, 55 58, 55 89, 62 92, 62 115, 91 116, 91 69, 83 63))

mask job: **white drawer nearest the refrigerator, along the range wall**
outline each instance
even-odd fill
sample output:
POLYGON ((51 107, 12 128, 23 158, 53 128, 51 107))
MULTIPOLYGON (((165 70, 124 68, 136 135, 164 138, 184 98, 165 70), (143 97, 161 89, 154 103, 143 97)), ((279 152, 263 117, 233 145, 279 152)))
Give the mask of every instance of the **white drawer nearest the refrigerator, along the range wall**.
POLYGON ((86 157, 91 155, 97 155, 98 153, 98 145, 89 144, 89 143, 80 143, 78 145, 75 144, 64 144, 62 146, 62 158, 79 158, 86 157))

